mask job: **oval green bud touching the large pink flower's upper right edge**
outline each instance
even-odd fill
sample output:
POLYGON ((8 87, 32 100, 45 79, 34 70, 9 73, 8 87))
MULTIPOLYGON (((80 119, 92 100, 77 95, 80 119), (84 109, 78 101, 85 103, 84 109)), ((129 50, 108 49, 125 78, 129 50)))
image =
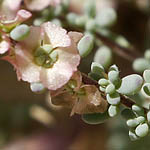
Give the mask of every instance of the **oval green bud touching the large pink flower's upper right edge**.
POLYGON ((91 36, 84 36, 78 43, 78 50, 81 57, 86 57, 90 54, 94 46, 94 41, 91 36))

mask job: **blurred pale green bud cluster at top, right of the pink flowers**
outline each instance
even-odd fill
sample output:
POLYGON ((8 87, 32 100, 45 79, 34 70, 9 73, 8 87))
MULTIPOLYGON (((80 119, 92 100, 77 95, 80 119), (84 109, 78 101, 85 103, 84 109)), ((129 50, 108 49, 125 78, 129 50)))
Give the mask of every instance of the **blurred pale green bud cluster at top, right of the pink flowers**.
POLYGON ((67 20, 71 25, 85 28, 86 31, 95 32, 96 29, 112 26, 117 20, 116 11, 107 7, 96 10, 96 3, 88 0, 84 4, 84 14, 69 13, 67 20))

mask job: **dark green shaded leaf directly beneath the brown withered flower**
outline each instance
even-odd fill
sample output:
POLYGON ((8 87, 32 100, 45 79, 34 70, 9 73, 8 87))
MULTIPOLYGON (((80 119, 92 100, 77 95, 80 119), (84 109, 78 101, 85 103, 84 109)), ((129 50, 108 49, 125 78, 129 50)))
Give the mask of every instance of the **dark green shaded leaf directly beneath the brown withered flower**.
POLYGON ((87 124, 100 124, 104 123, 107 119, 109 119, 107 111, 104 113, 93 113, 82 115, 82 120, 87 124))

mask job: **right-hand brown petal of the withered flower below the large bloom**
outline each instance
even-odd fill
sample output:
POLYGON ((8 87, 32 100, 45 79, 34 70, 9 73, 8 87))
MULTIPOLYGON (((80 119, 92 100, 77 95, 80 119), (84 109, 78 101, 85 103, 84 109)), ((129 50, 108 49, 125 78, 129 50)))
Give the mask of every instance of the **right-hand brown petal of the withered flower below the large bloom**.
POLYGON ((80 96, 74 105, 71 115, 105 112, 107 101, 101 97, 99 90, 94 85, 83 85, 86 95, 80 96))

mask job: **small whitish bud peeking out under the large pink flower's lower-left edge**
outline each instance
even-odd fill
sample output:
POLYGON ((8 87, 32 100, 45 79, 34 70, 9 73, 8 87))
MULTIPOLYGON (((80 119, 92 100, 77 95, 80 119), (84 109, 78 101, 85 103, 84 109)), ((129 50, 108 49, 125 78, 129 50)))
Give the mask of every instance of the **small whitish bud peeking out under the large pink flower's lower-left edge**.
POLYGON ((35 93, 42 93, 45 91, 45 87, 42 83, 40 82, 33 82, 30 84, 30 88, 32 92, 35 93))

